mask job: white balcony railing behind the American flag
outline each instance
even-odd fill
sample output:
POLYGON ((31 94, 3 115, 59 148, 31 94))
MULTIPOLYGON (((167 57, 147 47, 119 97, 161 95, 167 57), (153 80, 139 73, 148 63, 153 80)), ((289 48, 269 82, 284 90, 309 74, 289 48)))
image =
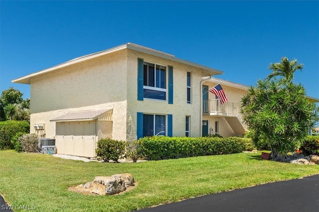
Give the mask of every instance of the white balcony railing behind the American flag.
POLYGON ((237 102, 225 102, 220 103, 219 99, 208 99, 203 100, 203 113, 223 113, 223 114, 233 114, 239 115, 239 103, 237 102))

